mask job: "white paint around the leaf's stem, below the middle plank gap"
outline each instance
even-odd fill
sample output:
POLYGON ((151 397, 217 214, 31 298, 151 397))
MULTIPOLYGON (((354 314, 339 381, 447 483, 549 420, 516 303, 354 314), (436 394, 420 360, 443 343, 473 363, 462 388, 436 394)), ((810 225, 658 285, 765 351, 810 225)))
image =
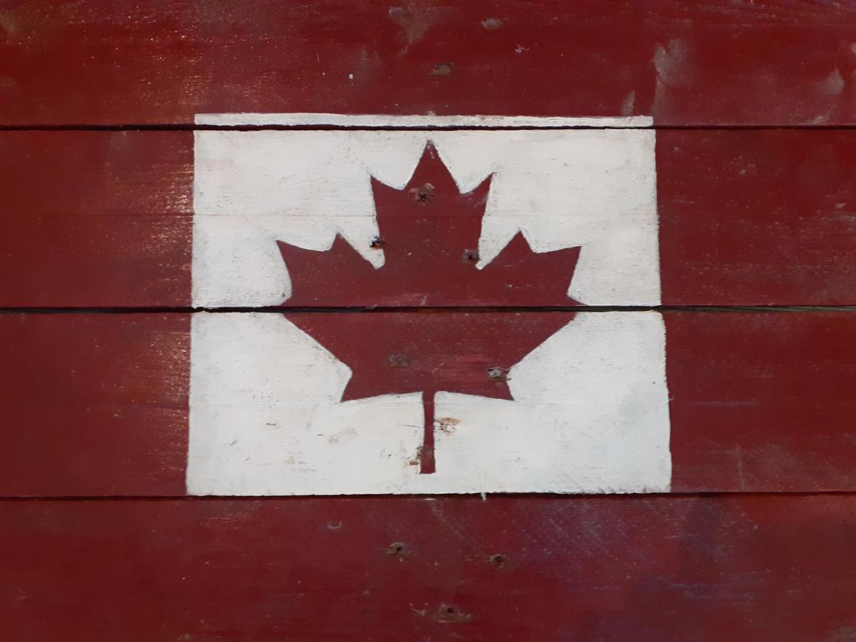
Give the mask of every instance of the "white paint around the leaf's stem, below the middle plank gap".
POLYGON ((666 491, 664 336, 656 312, 580 312, 512 368, 514 401, 437 394, 423 475, 419 394, 342 403, 348 367, 282 315, 197 313, 187 491, 666 491))

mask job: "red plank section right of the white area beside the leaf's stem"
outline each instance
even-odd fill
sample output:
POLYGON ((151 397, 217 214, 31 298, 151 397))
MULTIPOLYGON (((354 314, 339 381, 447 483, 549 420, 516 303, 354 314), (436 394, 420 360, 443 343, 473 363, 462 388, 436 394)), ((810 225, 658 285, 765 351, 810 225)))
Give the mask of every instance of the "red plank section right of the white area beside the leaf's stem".
POLYGON ((673 490, 856 489, 856 314, 665 318, 673 490))

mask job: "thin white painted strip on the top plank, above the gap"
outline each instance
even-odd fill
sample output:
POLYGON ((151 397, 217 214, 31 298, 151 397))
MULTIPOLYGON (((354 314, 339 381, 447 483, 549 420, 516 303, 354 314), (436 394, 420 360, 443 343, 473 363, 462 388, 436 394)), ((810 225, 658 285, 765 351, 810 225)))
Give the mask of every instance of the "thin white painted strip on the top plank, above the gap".
POLYGON ((484 127, 484 128, 646 128, 651 116, 584 117, 566 116, 387 116, 371 114, 197 114, 197 125, 231 127, 484 127))

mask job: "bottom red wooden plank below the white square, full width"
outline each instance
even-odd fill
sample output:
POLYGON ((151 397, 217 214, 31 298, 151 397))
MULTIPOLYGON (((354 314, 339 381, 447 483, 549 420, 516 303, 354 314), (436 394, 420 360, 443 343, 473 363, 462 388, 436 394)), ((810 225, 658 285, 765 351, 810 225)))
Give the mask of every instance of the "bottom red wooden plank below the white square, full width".
POLYGON ((10 639, 853 636, 853 496, 0 508, 10 639))

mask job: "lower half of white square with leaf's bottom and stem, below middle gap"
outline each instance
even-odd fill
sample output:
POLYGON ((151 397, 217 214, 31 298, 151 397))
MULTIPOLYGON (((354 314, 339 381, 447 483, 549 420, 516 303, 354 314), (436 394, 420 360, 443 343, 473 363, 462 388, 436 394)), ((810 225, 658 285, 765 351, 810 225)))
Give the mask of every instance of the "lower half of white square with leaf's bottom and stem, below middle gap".
POLYGON ((193 494, 669 490, 657 312, 221 312, 191 327, 193 494))

